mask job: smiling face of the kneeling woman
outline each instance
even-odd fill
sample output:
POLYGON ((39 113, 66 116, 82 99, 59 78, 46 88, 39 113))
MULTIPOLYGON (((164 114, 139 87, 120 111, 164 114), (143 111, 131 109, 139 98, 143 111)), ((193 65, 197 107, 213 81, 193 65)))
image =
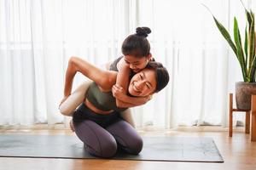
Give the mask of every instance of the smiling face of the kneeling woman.
POLYGON ((129 94, 133 96, 148 96, 154 94, 156 88, 156 77, 154 70, 143 69, 131 78, 129 94))

